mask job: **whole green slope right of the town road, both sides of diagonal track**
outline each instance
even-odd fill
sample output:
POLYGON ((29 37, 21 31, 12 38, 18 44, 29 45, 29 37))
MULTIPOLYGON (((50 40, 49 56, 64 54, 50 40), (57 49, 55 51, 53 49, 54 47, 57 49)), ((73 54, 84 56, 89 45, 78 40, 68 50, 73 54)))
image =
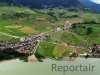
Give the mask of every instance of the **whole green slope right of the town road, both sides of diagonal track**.
POLYGON ((59 40, 69 45, 91 46, 100 44, 100 25, 99 24, 82 24, 76 25, 69 31, 57 32, 51 35, 52 40, 59 40), (92 32, 87 34, 87 29, 92 28, 92 32))

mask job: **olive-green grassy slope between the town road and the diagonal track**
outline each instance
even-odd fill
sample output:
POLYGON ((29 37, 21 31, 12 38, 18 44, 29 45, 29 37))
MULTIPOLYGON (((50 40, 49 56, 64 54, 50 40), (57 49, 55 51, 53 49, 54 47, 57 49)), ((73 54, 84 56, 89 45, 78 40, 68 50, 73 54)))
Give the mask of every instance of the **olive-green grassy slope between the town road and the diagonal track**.
POLYGON ((59 40, 71 45, 85 45, 84 41, 77 34, 68 31, 57 32, 51 35, 52 40, 59 40))

